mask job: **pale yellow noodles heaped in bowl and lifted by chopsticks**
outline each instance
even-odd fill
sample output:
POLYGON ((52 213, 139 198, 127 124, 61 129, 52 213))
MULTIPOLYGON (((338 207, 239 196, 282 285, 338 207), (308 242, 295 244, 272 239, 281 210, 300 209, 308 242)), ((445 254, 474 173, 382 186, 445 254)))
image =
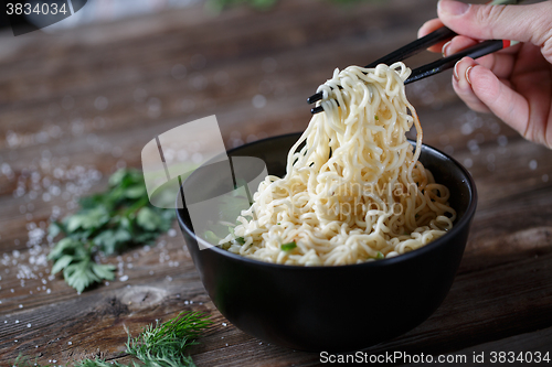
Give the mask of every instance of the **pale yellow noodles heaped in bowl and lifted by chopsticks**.
POLYGON ((222 247, 274 263, 337 266, 391 258, 450 229, 448 188, 417 161, 410 73, 403 63, 336 69, 318 88, 325 112, 290 149, 287 174, 259 184, 222 247), (405 136, 413 125, 415 151, 405 136))

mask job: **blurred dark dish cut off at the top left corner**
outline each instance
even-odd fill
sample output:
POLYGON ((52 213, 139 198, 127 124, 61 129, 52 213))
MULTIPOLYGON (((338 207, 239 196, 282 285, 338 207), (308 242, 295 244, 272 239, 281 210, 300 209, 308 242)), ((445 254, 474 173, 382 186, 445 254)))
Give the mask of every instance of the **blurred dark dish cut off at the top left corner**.
POLYGON ((0 20, 9 24, 13 35, 44 29, 72 17, 87 0, 0 0, 0 20))

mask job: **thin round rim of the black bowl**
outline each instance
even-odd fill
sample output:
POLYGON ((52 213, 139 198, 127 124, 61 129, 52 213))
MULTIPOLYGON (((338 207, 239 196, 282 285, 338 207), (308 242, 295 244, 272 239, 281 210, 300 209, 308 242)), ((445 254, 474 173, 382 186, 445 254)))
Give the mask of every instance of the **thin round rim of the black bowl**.
MULTIPOLYGON (((257 144, 263 144, 263 143, 266 143, 270 140, 290 138, 293 136, 297 136, 299 138, 301 136, 301 133, 302 132, 291 132, 291 133, 285 133, 285 134, 279 134, 279 136, 274 136, 274 137, 261 139, 257 141, 245 143, 245 144, 236 147, 236 148, 232 148, 232 149, 226 151, 226 154, 230 156, 230 155, 232 155, 232 153, 234 153, 235 151, 237 151, 240 149, 243 149, 246 147, 253 147, 253 145, 257 145, 257 144)), ((407 139, 407 140, 411 144, 413 144, 415 147, 416 141, 414 141, 412 139, 407 139)), ((473 217, 475 215, 476 207, 477 207, 477 201, 478 201, 476 183, 475 183, 474 179, 471 177, 471 174, 469 173, 469 171, 466 168, 464 168, 453 156, 442 152, 440 150, 438 150, 436 148, 433 148, 431 145, 422 143, 422 149, 427 149, 434 154, 436 153, 438 155, 444 156, 445 159, 450 160, 454 163, 454 165, 467 177, 466 184, 468 185, 468 190, 470 192, 469 204, 466 208, 466 212, 461 216, 461 218, 459 218, 459 220, 453 226, 453 229, 447 231, 445 235, 443 235, 442 237, 437 238, 436 240, 433 240, 429 244, 422 246, 415 250, 408 251, 406 253, 401 253, 401 255, 397 255, 397 256, 392 257, 392 258, 380 259, 378 261, 365 261, 365 262, 361 262, 361 263, 349 263, 349 265, 338 265, 338 266, 308 266, 308 267, 307 266, 266 262, 266 261, 256 260, 256 259, 247 258, 247 257, 242 256, 242 255, 230 252, 227 250, 219 248, 217 246, 209 244, 206 240, 204 240, 201 237, 198 237, 195 235, 195 233, 193 230, 191 230, 183 222, 183 219, 180 215, 180 209, 178 208, 178 206, 176 208, 177 219, 179 222, 180 228, 183 228, 192 238, 195 239, 195 241, 206 245, 204 249, 201 249, 201 251, 214 251, 215 253, 219 253, 223 257, 229 257, 230 259, 234 259, 237 261, 244 261, 245 263, 248 263, 251 266, 257 266, 257 267, 265 266, 265 267, 275 268, 275 269, 288 269, 288 270, 304 269, 304 271, 315 271, 316 269, 343 269, 343 268, 351 268, 352 269, 352 268, 360 268, 360 267, 375 267, 375 268, 378 268, 378 267, 391 266, 391 265, 408 261, 410 259, 415 258, 415 257, 420 257, 426 252, 432 251, 433 249, 435 249, 437 247, 446 246, 446 242, 448 241, 447 239, 449 237, 453 237, 454 235, 459 233, 461 230, 461 228, 464 228, 465 226, 469 226, 469 222, 473 219, 473 217), (307 270, 307 269, 310 269, 310 270, 307 270)), ((235 155, 235 156, 240 156, 240 155, 235 155)), ((184 180, 184 182, 185 182, 185 180, 184 180)), ((182 184, 184 184, 184 182, 182 184)), ((178 203, 178 197, 177 197, 177 203, 178 203)), ((185 241, 185 239, 184 239, 184 241, 185 241)))

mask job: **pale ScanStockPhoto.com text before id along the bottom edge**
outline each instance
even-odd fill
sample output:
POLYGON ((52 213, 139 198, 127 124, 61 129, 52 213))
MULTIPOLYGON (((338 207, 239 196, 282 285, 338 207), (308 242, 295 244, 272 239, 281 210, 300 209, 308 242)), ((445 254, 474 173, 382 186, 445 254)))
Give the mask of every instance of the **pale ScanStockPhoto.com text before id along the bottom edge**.
POLYGON ((442 354, 442 355, 431 355, 431 354, 408 354, 405 352, 385 352, 380 354, 370 354, 367 352, 357 352, 353 354, 330 354, 328 352, 320 352, 320 363, 321 364, 465 364, 468 361, 468 357, 463 354, 442 354))

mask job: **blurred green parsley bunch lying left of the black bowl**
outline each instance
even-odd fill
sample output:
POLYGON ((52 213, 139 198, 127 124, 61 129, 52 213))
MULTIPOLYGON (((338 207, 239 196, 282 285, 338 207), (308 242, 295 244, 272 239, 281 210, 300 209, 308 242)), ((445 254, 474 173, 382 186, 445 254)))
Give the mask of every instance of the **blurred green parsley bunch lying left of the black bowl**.
POLYGON ((49 235, 65 235, 49 255, 52 273, 78 292, 102 280, 113 280, 115 267, 94 260, 99 252, 113 255, 132 245, 147 244, 170 229, 174 211, 149 204, 144 175, 119 170, 109 177, 106 192, 83 197, 81 209, 49 227, 49 235))

